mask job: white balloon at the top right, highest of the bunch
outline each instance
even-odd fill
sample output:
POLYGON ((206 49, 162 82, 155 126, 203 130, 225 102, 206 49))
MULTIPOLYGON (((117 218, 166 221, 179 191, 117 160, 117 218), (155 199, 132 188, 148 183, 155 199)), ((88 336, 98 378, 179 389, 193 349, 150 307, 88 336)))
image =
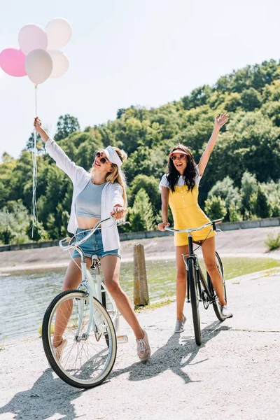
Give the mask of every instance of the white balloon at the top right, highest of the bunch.
POLYGON ((68 20, 56 18, 48 22, 45 32, 48 35, 48 50, 59 50, 69 42, 72 36, 72 27, 68 20))

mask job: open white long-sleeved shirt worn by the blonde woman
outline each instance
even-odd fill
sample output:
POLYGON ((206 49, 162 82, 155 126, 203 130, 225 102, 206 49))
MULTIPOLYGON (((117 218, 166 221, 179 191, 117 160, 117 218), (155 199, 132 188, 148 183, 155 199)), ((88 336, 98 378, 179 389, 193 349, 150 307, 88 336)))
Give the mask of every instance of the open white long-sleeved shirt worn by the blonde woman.
MULTIPOLYGON (((57 167, 62 169, 66 175, 69 176, 73 183, 73 196, 71 204, 71 214, 67 230, 71 233, 75 233, 78 228, 78 221, 75 214, 75 201, 77 195, 79 195, 88 181, 90 180, 91 174, 89 174, 82 167, 78 167, 72 162, 68 156, 62 151, 54 140, 48 139, 45 142, 45 150, 48 152, 50 157, 55 160, 57 167)), ((116 204, 123 206, 123 188, 119 183, 107 182, 102 190, 101 198, 101 218, 108 218, 110 212, 116 204)), ((118 235, 117 222, 106 221, 102 223, 102 242, 104 251, 111 251, 112 249, 120 248, 120 237, 118 235)))

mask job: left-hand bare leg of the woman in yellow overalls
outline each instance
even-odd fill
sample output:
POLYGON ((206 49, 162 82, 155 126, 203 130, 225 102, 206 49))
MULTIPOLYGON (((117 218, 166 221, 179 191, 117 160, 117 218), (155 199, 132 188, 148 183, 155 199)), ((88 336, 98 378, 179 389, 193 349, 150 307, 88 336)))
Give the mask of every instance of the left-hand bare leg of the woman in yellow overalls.
POLYGON ((177 280, 176 280, 176 311, 177 319, 183 321, 183 307, 186 298, 187 286, 187 272, 186 265, 183 261, 182 254, 188 253, 188 245, 176 246, 176 267, 177 267, 177 280))

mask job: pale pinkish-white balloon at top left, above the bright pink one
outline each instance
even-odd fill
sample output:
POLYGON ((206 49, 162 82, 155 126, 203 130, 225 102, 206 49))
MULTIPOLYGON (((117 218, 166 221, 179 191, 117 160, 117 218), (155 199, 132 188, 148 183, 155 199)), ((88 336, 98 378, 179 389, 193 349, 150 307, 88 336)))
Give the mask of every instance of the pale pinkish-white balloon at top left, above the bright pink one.
POLYGON ((46 50, 48 36, 38 25, 25 25, 18 33, 20 49, 27 55, 32 50, 46 50))

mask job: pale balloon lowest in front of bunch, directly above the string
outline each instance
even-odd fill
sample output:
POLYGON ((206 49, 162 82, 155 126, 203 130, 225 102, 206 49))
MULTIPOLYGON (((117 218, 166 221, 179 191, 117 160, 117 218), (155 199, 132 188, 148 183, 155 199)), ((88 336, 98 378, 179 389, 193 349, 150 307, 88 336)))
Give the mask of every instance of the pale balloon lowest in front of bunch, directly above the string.
POLYGON ((33 50, 25 59, 25 71, 35 85, 43 83, 52 73, 52 59, 44 50, 33 50))

